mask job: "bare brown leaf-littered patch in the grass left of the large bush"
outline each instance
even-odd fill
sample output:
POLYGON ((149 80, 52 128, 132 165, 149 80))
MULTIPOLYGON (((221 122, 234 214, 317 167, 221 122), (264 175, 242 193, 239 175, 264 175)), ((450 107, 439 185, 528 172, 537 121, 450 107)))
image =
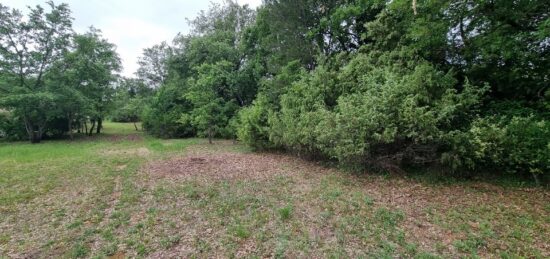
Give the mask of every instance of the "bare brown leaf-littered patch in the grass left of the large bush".
POLYGON ((264 154, 193 154, 187 157, 157 161, 146 170, 160 177, 209 180, 268 179, 289 175, 292 172, 281 168, 288 158, 264 154))

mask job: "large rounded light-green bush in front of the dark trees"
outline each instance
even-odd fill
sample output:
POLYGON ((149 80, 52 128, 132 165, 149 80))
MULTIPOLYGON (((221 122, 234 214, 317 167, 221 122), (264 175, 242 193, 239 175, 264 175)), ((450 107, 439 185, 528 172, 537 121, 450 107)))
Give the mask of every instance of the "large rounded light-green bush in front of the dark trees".
MULTIPOLYGON (((423 61, 393 65, 393 58, 358 54, 341 70, 321 65, 303 76, 270 117, 269 140, 343 164, 439 161, 446 135, 469 120, 485 87, 465 82, 458 91, 451 72, 423 61)), ((244 114, 259 117, 254 109, 244 114)))

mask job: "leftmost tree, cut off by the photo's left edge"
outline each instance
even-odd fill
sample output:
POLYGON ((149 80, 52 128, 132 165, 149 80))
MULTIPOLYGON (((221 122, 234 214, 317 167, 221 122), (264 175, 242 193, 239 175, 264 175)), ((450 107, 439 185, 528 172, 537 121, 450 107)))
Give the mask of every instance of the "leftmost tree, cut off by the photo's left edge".
POLYGON ((0 73, 6 92, 0 105, 21 116, 32 143, 46 130, 55 93, 48 91, 44 75, 63 57, 72 33, 71 12, 66 4, 47 2, 30 8, 27 18, 20 11, 0 4, 0 73))

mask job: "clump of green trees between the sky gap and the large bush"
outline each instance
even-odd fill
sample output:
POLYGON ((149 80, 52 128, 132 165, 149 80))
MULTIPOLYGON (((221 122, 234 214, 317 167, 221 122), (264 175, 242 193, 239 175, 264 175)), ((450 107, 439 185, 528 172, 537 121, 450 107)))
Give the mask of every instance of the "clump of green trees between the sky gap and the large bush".
POLYGON ((213 5, 191 21, 191 34, 178 36, 173 47, 164 47, 171 50, 161 66, 167 78, 146 109, 148 132, 209 139, 236 135, 235 115, 254 100, 262 71, 261 65, 248 60, 255 52, 244 47, 248 43, 243 29, 253 18, 252 10, 233 2, 213 5))

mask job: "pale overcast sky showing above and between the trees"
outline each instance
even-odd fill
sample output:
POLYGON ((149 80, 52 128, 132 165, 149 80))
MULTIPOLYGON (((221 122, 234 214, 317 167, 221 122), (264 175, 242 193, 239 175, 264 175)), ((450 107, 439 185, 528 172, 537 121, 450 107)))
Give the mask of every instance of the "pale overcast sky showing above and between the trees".
MULTIPOLYGON (((22 11, 27 6, 45 6, 46 0, 2 0, 2 4, 22 11)), ((194 18, 211 3, 223 0, 55 0, 68 3, 73 29, 83 33, 90 26, 103 32, 109 42, 117 45, 122 59, 122 75, 131 77, 137 70, 142 50, 162 41, 171 42, 179 33, 187 33, 186 18, 194 18)), ((237 0, 241 5, 256 8, 261 0, 237 0)))

